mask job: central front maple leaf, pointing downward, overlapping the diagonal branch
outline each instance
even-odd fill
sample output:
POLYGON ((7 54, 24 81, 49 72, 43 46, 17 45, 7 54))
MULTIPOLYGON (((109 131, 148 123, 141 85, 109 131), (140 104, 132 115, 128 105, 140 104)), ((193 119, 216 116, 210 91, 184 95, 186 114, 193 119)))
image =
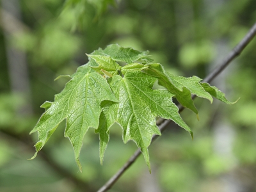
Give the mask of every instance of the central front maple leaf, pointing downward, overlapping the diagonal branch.
POLYGON ((109 84, 119 100, 117 120, 123 127, 126 143, 133 140, 150 168, 148 146, 154 134, 161 134, 156 126, 156 116, 173 120, 190 132, 191 129, 179 115, 179 109, 172 102, 173 94, 167 90, 152 90, 156 78, 143 72, 127 72, 124 77, 113 76, 109 84))

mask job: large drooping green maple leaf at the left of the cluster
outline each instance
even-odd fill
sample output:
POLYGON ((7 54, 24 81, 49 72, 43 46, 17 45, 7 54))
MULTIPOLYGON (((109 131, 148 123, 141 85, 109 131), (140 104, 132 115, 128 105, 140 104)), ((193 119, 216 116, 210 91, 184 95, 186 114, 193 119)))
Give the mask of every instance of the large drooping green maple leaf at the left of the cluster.
POLYGON ((38 132, 39 141, 35 145, 35 156, 44 147, 58 125, 67 119, 65 137, 69 138, 72 143, 76 162, 81 170, 79 153, 83 145, 84 134, 89 127, 97 129, 99 126, 102 100, 118 102, 104 77, 86 65, 79 67, 64 90, 55 95, 54 102, 31 131, 31 133, 38 132))

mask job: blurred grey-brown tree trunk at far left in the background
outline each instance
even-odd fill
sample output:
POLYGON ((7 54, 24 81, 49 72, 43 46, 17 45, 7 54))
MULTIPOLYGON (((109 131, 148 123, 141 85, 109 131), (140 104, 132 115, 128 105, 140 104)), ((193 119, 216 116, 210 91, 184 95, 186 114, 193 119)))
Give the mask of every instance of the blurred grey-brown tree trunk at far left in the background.
POLYGON ((31 92, 29 87, 28 65, 26 54, 13 46, 13 36, 22 33, 20 4, 18 0, 1 0, 2 28, 5 39, 6 58, 10 88, 13 93, 24 97, 25 103, 17 112, 20 115, 32 113, 31 92))

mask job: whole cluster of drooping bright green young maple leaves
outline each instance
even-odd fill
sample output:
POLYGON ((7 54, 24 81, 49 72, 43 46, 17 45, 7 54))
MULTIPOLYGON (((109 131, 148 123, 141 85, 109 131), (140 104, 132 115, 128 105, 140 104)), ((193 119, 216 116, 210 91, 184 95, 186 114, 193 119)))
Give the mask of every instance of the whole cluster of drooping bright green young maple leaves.
POLYGON ((179 108, 172 102, 176 99, 182 106, 198 114, 191 94, 208 99, 212 97, 233 104, 225 94, 199 77, 173 76, 159 63, 151 63, 148 52, 109 45, 88 54, 86 65, 77 68, 54 102, 45 102, 45 113, 31 131, 38 132, 37 152, 44 147, 58 125, 66 120, 65 137, 74 148, 76 163, 81 170, 79 154, 83 138, 90 127, 99 134, 100 163, 109 141, 109 127, 117 123, 123 129, 124 143, 132 140, 141 149, 150 170, 148 146, 154 134, 161 135, 156 117, 173 120, 193 132, 179 115, 179 108), (122 67, 120 62, 125 65, 122 67), (153 90, 158 82, 164 89, 153 90))

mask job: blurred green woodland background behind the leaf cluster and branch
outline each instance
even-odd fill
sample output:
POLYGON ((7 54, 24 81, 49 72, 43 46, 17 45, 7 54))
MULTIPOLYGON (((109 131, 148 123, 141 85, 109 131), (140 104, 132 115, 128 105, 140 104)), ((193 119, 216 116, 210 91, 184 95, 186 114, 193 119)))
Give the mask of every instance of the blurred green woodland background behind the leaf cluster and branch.
MULTIPOLYGON (((29 135, 68 79, 88 61, 85 53, 118 43, 140 51, 166 70, 204 78, 239 43, 256 20, 255 0, 1 0, 0 191, 97 191, 136 150, 111 127, 104 164, 91 129, 81 151, 54 132, 38 157, 29 135)), ((109 191, 256 191, 256 38, 212 84, 233 106, 196 99, 200 121, 185 110, 193 129, 171 124, 149 148, 152 174, 142 157, 109 191)))

